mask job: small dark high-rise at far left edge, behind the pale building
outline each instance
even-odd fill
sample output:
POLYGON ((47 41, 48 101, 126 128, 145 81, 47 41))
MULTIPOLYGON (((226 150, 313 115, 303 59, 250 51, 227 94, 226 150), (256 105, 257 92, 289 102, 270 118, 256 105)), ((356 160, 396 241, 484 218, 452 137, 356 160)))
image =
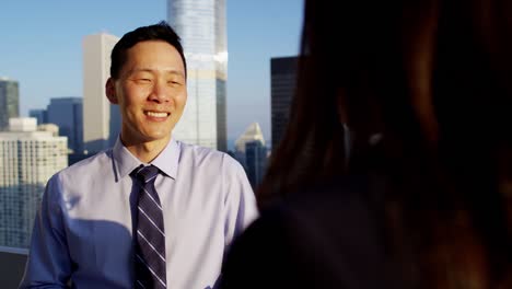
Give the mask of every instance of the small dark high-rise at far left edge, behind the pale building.
POLYGON ((0 78, 0 131, 9 128, 9 118, 20 116, 18 81, 0 78))

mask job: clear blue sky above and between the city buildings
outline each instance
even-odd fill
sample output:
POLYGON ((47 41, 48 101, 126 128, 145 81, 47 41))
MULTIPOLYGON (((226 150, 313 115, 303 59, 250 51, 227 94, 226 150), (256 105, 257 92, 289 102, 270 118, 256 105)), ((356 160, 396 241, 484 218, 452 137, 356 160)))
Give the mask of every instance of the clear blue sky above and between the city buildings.
MULTIPOLYGON (((303 0, 226 0, 228 138, 253 122, 270 140, 270 58, 299 51, 303 0)), ((82 96, 82 38, 123 36, 166 20, 166 0, 5 0, 0 77, 20 82, 20 111, 82 96)), ((229 143, 231 147, 232 143, 229 143)))

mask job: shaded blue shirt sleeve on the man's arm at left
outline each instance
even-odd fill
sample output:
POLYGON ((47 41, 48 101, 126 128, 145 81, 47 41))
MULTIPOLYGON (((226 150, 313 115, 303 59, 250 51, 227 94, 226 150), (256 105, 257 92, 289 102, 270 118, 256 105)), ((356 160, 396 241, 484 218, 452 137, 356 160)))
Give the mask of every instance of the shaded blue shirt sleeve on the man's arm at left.
POLYGON ((37 211, 20 288, 68 288, 72 262, 62 221, 62 205, 60 181, 56 174, 48 181, 37 211))

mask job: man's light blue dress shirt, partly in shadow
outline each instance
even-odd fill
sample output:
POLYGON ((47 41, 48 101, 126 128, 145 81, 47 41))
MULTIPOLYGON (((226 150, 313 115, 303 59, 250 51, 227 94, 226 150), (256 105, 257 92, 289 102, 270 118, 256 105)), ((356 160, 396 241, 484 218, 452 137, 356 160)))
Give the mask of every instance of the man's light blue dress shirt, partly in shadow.
MULTIPOLYGON (((167 288, 214 288, 233 238, 256 217, 230 155, 172 139, 151 162, 166 233, 167 288)), ((132 288, 132 217, 141 162, 119 141, 55 174, 36 217, 21 288, 132 288)))

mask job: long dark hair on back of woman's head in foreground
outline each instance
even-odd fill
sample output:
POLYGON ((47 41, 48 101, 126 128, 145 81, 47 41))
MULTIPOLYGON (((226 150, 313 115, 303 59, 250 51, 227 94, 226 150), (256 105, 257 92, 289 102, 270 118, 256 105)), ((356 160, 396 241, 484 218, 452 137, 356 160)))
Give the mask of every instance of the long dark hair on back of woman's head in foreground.
POLYGON ((508 0, 306 0, 296 94, 260 206, 383 175, 409 281, 496 288, 512 257, 511 19, 508 0))

